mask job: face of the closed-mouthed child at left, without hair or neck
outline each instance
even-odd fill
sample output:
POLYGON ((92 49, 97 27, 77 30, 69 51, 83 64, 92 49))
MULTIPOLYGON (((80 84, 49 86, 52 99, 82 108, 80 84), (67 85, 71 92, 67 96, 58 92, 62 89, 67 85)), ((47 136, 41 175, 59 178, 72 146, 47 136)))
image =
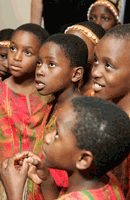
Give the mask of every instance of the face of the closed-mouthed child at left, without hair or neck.
POLYGON ((11 40, 8 63, 10 73, 20 77, 35 70, 40 40, 30 32, 18 31, 11 40))

